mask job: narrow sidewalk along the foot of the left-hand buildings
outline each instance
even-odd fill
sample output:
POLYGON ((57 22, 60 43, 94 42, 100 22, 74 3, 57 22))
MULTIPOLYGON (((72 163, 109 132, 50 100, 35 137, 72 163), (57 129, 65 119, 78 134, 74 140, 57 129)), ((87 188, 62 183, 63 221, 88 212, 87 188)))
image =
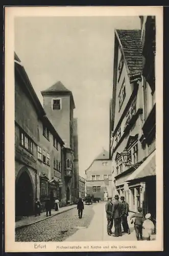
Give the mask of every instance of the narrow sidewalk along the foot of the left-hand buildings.
POLYGON ((59 209, 59 211, 55 211, 54 209, 52 209, 51 211, 51 216, 49 217, 46 217, 46 212, 41 212, 40 216, 29 216, 29 217, 26 217, 26 218, 23 218, 22 220, 19 220, 19 221, 16 221, 15 222, 15 230, 16 229, 19 229, 19 228, 23 228, 23 227, 26 227, 26 226, 30 226, 34 223, 37 223, 37 222, 40 222, 40 221, 43 221, 47 218, 52 218, 53 216, 55 215, 59 215, 61 214, 62 212, 65 212, 65 211, 68 211, 68 210, 71 210, 73 208, 76 208, 77 205, 74 204, 74 205, 69 205, 69 206, 64 206, 64 207, 61 207, 59 209))

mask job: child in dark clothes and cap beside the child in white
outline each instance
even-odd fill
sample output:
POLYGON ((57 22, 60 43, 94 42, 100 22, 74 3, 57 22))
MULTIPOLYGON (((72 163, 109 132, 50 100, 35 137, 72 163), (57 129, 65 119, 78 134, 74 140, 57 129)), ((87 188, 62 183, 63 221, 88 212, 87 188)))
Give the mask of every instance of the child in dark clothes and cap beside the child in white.
MULTIPOLYGON (((134 229, 136 232, 136 238, 137 238, 137 240, 139 240, 139 235, 140 235, 140 240, 142 240, 142 224, 144 221, 144 217, 142 214, 141 207, 138 207, 137 210, 138 210, 138 212, 136 212, 136 214, 133 214, 131 216, 130 220, 133 218, 135 219, 134 220, 134 229)), ((133 223, 133 222, 131 222, 131 223, 133 223)))

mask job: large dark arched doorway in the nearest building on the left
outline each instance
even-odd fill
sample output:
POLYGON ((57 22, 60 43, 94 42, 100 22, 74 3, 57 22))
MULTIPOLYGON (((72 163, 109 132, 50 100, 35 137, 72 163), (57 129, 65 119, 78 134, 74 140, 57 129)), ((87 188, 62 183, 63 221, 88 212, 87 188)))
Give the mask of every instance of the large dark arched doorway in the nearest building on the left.
POLYGON ((29 174, 23 171, 15 184, 15 215, 33 215, 33 186, 29 174))

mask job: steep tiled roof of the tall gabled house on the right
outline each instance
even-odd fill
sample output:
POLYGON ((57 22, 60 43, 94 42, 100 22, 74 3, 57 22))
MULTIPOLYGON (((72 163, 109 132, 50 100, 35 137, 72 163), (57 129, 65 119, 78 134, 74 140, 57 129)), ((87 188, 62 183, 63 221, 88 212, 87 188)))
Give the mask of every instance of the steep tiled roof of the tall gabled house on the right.
POLYGON ((130 80, 142 74, 141 30, 115 30, 130 80))

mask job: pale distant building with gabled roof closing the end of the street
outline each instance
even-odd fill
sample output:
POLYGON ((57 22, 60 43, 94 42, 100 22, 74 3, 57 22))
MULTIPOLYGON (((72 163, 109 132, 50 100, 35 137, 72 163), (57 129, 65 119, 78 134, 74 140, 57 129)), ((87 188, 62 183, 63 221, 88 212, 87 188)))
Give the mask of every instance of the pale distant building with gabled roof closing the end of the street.
POLYGON ((109 153, 103 150, 85 170, 86 193, 101 198, 103 201, 106 201, 108 196, 112 196, 111 172, 109 153))

